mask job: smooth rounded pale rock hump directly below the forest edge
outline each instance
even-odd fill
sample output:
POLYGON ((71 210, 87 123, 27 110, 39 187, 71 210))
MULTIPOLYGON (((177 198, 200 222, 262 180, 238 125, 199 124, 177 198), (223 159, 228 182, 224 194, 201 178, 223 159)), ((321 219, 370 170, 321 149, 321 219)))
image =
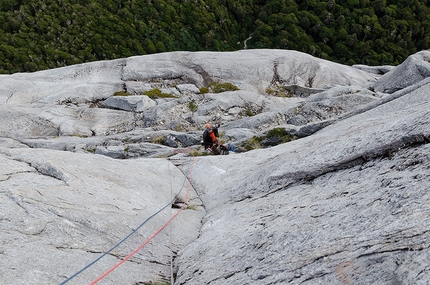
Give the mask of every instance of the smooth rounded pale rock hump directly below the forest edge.
POLYGON ((211 81, 229 81, 240 89, 264 93, 271 82, 328 88, 373 82, 372 74, 321 60, 296 51, 242 50, 226 52, 174 52, 127 60, 125 81, 191 83, 197 87, 211 81), (252 60, 249 60, 252 58, 252 60), (228 68, 226 68, 228 67, 228 68))

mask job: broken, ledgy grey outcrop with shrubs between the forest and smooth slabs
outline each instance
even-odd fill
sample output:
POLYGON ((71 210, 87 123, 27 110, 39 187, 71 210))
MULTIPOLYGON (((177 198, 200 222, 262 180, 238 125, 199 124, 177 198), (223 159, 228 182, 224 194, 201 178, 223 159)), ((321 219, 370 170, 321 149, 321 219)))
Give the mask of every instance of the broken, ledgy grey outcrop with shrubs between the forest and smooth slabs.
MULTIPOLYGON (((0 135, 51 141, 39 145, 65 145, 70 141, 64 146, 68 150, 98 149, 100 154, 126 158, 168 155, 164 148, 157 148, 160 153, 156 154, 149 145, 128 147, 131 136, 152 142, 154 132, 170 130, 194 137, 206 122, 212 122, 229 133, 225 141, 243 147, 251 137, 274 127, 338 116, 367 103, 369 98, 359 100, 359 94, 349 95, 356 90, 330 91, 332 87, 358 85, 363 94, 376 94, 365 90, 378 75, 295 51, 246 50, 222 56, 213 52, 156 54, 3 78, 0 101, 7 111, 0 116, 9 123, 0 126, 0 135), (211 91, 214 84, 230 84, 239 90, 200 92, 200 88, 211 91), (143 95, 154 90, 170 98, 143 95), (315 97, 311 96, 307 103, 306 97, 323 90, 326 97, 336 99, 315 105, 315 97), (335 93, 329 95, 331 92, 335 93), (116 96, 118 93, 129 96, 116 96), (29 115, 21 118, 23 108, 29 115), (248 129, 246 137, 243 128, 248 129), (104 138, 93 139, 100 136, 104 138), (61 142, 55 143, 56 140, 61 142), (118 144, 129 151, 112 154, 107 148, 118 144), (145 149, 147 146, 149 149, 145 149)), ((170 154, 177 147, 190 147, 177 136, 162 136, 158 141, 171 147, 170 154)))

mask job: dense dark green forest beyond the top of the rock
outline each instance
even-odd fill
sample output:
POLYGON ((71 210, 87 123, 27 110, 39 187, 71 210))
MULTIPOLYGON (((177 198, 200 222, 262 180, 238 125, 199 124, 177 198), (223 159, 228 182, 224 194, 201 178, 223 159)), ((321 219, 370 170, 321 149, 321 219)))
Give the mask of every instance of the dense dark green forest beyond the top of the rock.
POLYGON ((0 73, 168 51, 289 49, 397 65, 430 48, 426 0, 1 0, 0 73))

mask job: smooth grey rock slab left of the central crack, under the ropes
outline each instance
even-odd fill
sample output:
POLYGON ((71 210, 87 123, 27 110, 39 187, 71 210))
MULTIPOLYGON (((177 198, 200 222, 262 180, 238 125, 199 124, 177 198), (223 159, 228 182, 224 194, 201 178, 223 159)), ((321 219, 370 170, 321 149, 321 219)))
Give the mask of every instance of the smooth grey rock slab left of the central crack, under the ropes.
MULTIPOLYGON (((0 153, 2 284, 59 284, 169 204, 184 185, 182 173, 164 159, 118 163, 106 156, 29 148, 0 148, 0 153)), ((110 280, 147 283, 170 276, 172 252, 198 234, 203 212, 195 192, 190 197, 196 210, 186 210, 193 213, 174 221, 110 280)), ((167 207, 71 283, 96 279, 176 211, 167 207)))

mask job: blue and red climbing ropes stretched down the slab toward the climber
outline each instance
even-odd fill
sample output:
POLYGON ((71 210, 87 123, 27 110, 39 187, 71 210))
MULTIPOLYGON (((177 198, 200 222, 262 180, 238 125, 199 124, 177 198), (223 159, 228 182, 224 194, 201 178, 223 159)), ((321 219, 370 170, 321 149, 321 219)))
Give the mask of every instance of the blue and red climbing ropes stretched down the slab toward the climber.
POLYGON ((179 194, 182 192, 182 190, 184 189, 184 185, 185 182, 188 181, 188 189, 187 189, 187 193, 186 193, 186 199, 182 205, 182 207, 179 209, 179 211, 174 214, 159 230, 157 230, 157 232, 155 232, 151 237, 149 237, 143 244, 141 244, 135 251, 133 251, 131 254, 129 254, 127 257, 125 257, 123 260, 121 260, 119 263, 117 263, 115 266, 113 266, 111 269, 109 269, 106 273, 104 273, 103 275, 101 275, 99 278, 97 278, 96 280, 94 280, 91 284, 95 284, 98 281, 100 281, 101 279, 103 279, 106 275, 108 275, 110 272, 112 272, 115 268, 117 268, 118 266, 120 266, 122 263, 124 263, 127 259, 129 259, 131 256, 133 256, 136 252, 138 252, 142 247, 144 247, 149 241, 151 241, 159 232, 161 232, 186 206, 186 203, 188 202, 188 195, 189 195, 189 190, 191 188, 191 175, 192 175, 192 168, 191 168, 191 164, 194 163, 194 157, 190 156, 190 161, 188 163, 188 177, 189 179, 187 179, 187 176, 185 176, 184 178, 184 182, 182 183, 181 189, 179 190, 178 194, 175 195, 175 197, 173 197, 173 199, 166 204, 164 207, 162 207, 161 209, 159 209, 157 212, 155 212, 154 214, 152 214, 151 216, 149 216, 146 220, 144 220, 136 229, 134 229, 130 234, 128 234, 125 238, 123 238, 122 240, 120 240, 117 244, 115 244, 111 249, 109 249, 108 251, 106 251, 105 253, 103 253, 102 255, 100 255, 98 258, 96 258, 94 261, 92 261, 91 263, 89 263, 88 265, 86 265, 85 267, 83 267, 81 270, 79 270, 78 272, 76 272, 75 274, 73 274, 72 276, 70 276, 69 278, 67 278, 66 280, 64 280, 63 282, 61 282, 59 285, 63 285, 66 284, 67 282, 69 282, 70 280, 72 280, 73 278, 75 278, 76 276, 78 276, 79 274, 81 274, 82 272, 84 272, 85 270, 87 270, 88 268, 90 268, 92 265, 94 265, 97 261, 99 261, 100 259, 102 259, 103 257, 105 257, 106 255, 108 255, 110 252, 112 252, 112 250, 114 250, 115 248, 117 248, 119 245, 121 245, 123 242, 125 242, 129 237, 131 237, 134 233, 136 233, 144 224, 146 224, 150 219, 152 219, 153 217, 155 217, 156 215, 158 215, 161 211, 163 211, 165 208, 167 208, 168 206, 171 206, 176 199, 178 198, 179 194))

